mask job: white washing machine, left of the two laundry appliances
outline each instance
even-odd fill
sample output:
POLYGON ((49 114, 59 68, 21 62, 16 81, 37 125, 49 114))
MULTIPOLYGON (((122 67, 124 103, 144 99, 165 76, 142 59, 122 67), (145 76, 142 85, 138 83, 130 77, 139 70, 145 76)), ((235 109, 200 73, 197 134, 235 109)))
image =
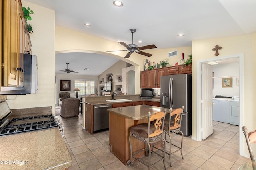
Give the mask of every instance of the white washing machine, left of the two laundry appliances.
POLYGON ((230 106, 229 101, 232 97, 215 96, 212 100, 213 105, 213 120, 223 123, 230 123, 230 106))

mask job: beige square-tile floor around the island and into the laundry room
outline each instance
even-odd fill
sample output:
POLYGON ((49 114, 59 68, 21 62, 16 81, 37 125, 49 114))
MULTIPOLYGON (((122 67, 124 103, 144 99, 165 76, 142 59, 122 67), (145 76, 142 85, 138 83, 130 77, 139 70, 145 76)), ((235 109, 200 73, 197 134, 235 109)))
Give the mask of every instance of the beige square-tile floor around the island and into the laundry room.
MULTIPOLYGON (((125 166, 110 152, 108 145, 109 131, 90 134, 82 127, 82 116, 64 119, 64 141, 72 156, 73 164, 68 170, 143 170, 144 164, 135 161, 132 166, 125 166)), ((214 121, 214 133, 206 140, 194 141, 184 137, 183 156, 180 152, 172 155, 172 167, 166 156, 168 170, 237 170, 248 158, 239 156, 238 126, 214 121)), ((180 135, 172 137, 173 143, 180 143, 180 135)), ((146 161, 147 157, 142 158, 146 161)), ((152 156, 154 160, 154 155, 152 156)), ((163 163, 152 166, 153 170, 164 169, 163 163)))

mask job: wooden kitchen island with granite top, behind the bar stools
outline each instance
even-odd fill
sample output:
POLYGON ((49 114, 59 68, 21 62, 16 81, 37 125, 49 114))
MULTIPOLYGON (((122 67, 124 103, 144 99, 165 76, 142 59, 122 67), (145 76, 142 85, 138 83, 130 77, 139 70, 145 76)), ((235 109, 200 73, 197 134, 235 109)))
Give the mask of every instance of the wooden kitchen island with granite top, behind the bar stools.
MULTIPOLYGON (((125 165, 130 160, 129 129, 134 125, 148 123, 148 112, 151 115, 164 111, 165 108, 137 105, 108 109, 109 113, 109 144, 111 152, 125 165)), ((136 152, 145 146, 142 141, 131 138, 132 150, 136 152)), ((144 153, 138 155, 144 156, 144 153)))

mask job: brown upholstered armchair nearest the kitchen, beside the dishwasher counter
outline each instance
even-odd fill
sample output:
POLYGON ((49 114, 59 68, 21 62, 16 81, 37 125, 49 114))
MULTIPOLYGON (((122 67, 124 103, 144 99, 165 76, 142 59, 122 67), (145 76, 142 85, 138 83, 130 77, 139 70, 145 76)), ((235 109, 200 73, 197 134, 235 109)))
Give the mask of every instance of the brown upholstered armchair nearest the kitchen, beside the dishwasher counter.
POLYGON ((67 98, 60 104, 60 116, 74 117, 79 114, 80 100, 78 98, 67 98))

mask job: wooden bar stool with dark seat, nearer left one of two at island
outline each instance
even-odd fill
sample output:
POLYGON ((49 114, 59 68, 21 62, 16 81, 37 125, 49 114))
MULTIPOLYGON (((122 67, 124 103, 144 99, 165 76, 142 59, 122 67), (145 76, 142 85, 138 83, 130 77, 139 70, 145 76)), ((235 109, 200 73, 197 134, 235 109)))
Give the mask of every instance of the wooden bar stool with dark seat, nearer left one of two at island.
MULTIPOLYGON (((160 111, 155 113, 154 115, 151 115, 150 112, 148 112, 148 123, 142 123, 136 126, 133 126, 130 128, 130 137, 129 137, 129 143, 130 143, 130 153, 131 153, 131 160, 127 160, 128 166, 132 164, 133 158, 141 162, 142 164, 148 166, 148 169, 150 170, 150 167, 156 164, 157 162, 160 162, 161 160, 163 162, 165 158, 165 146, 166 146, 166 141, 163 137, 163 128, 164 128, 164 118, 165 118, 165 113, 160 111), (154 124, 151 124, 150 122, 154 121, 154 124), (146 147, 144 149, 138 150, 135 153, 132 153, 132 143, 131 143, 131 137, 134 137, 135 139, 138 139, 144 143, 146 143, 146 147), (163 156, 160 155, 159 153, 155 152, 153 149, 151 149, 150 144, 160 141, 160 143, 163 143, 164 145, 164 150, 163 150, 163 156), (138 159, 135 157, 136 154, 145 151, 146 150, 146 155, 148 155, 148 164, 143 162, 142 160, 138 159), (155 153, 160 157, 160 160, 157 162, 154 162, 151 164, 151 153, 155 153)), ((166 169, 165 163, 164 163, 164 168, 166 169)))

